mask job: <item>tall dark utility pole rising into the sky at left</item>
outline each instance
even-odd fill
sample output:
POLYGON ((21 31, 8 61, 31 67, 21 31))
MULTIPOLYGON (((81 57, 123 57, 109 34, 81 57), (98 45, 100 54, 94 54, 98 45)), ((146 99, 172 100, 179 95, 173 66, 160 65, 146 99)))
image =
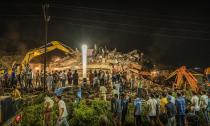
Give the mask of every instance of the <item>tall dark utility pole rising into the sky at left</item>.
POLYGON ((46 91, 46 68, 47 68, 47 36, 48 36, 48 22, 50 21, 50 16, 48 16, 48 9, 49 9, 49 4, 48 0, 45 0, 43 5, 43 14, 44 14, 44 33, 45 33, 45 46, 44 46, 44 92, 46 91))

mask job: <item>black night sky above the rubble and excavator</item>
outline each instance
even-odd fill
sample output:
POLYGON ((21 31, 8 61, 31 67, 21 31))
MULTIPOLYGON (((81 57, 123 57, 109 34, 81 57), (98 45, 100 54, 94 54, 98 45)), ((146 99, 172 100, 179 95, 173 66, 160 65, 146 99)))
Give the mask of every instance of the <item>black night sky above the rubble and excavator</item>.
MULTIPOLYGON (((50 1, 49 41, 142 50, 166 65, 210 65, 208 3, 50 1)), ((41 2, 2 1, 0 49, 24 52, 43 45, 41 2)))

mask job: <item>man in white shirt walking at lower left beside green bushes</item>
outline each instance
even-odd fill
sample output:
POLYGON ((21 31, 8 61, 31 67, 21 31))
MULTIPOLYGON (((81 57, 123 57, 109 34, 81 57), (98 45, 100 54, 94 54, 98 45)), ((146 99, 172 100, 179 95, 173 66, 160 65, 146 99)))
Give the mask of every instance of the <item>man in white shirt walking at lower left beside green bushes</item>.
POLYGON ((58 108, 59 108, 59 116, 58 116, 56 126, 61 126, 61 125, 69 126, 66 119, 68 116, 68 112, 66 109, 65 102, 61 100, 61 96, 56 96, 55 101, 58 103, 58 108))

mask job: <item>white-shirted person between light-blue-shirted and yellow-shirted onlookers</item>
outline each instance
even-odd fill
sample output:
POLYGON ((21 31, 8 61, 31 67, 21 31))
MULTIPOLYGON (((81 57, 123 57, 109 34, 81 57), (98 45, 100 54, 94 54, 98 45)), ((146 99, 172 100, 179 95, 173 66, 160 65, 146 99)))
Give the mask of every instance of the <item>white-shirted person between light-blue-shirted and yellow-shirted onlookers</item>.
POLYGON ((147 101, 147 105, 150 108, 149 109, 148 116, 150 117, 151 125, 156 124, 156 118, 157 118, 157 101, 156 101, 154 95, 151 95, 149 97, 149 100, 147 101))

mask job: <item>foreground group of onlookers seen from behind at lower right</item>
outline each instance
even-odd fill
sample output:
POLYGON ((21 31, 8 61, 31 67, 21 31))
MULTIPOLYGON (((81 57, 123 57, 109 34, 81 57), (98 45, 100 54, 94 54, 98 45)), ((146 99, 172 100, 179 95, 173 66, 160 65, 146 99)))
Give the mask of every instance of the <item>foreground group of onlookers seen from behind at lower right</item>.
MULTIPOLYGON (((124 125, 130 111, 130 97, 127 94, 122 94, 119 98, 117 94, 113 95, 113 116, 118 125, 124 125)), ((182 91, 161 94, 151 92, 146 98, 136 95, 132 101, 136 126, 144 126, 145 120, 148 120, 148 125, 151 126, 207 126, 210 123, 210 95, 205 91, 200 95, 194 92, 190 99, 186 98, 182 91), (201 120, 202 118, 204 120, 201 120)))

